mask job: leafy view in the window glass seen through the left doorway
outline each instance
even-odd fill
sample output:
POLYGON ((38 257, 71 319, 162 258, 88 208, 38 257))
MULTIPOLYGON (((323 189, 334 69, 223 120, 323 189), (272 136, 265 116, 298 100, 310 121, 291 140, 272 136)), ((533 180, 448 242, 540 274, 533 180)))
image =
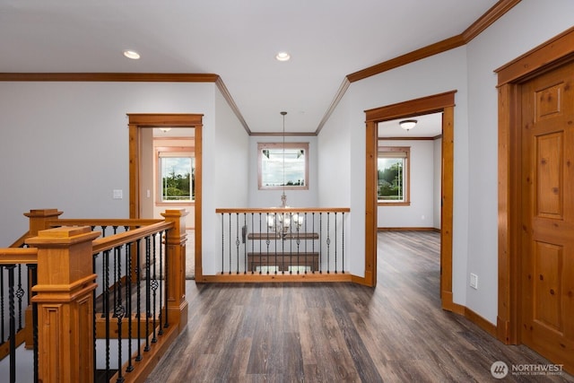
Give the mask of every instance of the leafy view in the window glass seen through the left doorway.
POLYGON ((196 177, 192 157, 161 157, 161 201, 193 201, 196 177))

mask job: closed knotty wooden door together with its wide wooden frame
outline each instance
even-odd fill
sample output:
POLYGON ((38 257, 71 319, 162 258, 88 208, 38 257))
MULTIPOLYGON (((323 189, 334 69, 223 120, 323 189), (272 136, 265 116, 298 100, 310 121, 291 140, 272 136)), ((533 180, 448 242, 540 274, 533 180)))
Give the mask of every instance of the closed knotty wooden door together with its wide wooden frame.
POLYGON ((496 71, 497 337, 506 344, 526 344, 569 371, 574 370, 574 250, 568 235, 560 237, 573 214, 573 55, 574 28, 496 71), (544 230, 548 224, 552 231, 544 230))

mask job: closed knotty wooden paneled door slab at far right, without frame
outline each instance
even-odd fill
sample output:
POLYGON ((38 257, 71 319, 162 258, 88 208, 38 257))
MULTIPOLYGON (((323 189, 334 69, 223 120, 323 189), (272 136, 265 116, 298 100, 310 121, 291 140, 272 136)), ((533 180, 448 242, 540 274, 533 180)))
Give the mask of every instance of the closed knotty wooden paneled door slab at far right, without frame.
POLYGON ((574 370, 574 64, 521 89, 520 336, 574 370))

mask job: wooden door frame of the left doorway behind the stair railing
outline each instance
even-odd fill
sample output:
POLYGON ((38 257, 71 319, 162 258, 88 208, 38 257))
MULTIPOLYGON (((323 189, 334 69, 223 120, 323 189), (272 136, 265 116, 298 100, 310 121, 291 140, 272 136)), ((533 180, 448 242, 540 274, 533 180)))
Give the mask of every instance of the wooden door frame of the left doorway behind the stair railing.
POLYGON ((129 217, 140 218, 141 131, 152 127, 195 128, 196 200, 195 262, 196 278, 202 271, 202 128, 203 114, 127 114, 129 118, 129 217))

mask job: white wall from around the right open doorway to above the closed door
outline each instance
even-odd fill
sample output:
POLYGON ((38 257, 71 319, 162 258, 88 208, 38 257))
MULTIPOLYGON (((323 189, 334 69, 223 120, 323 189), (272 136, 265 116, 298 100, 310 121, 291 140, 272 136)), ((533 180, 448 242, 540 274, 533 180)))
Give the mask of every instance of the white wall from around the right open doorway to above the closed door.
MULTIPOLYGON (((493 71, 570 28, 572 14, 574 2, 570 0, 523 0, 467 46, 352 83, 345 94, 342 108, 349 120, 350 135, 345 138, 350 138, 352 215, 364 217, 364 110, 457 90, 453 300, 493 324, 498 299, 498 97, 493 71), (479 290, 468 287, 470 272, 479 275, 479 290)), ((327 121, 322 135, 341 130, 333 119, 327 121)), ((357 227, 351 233, 357 255, 352 262, 357 265, 358 257, 364 257, 363 230, 357 227)), ((362 275, 362 270, 352 271, 362 275)))

